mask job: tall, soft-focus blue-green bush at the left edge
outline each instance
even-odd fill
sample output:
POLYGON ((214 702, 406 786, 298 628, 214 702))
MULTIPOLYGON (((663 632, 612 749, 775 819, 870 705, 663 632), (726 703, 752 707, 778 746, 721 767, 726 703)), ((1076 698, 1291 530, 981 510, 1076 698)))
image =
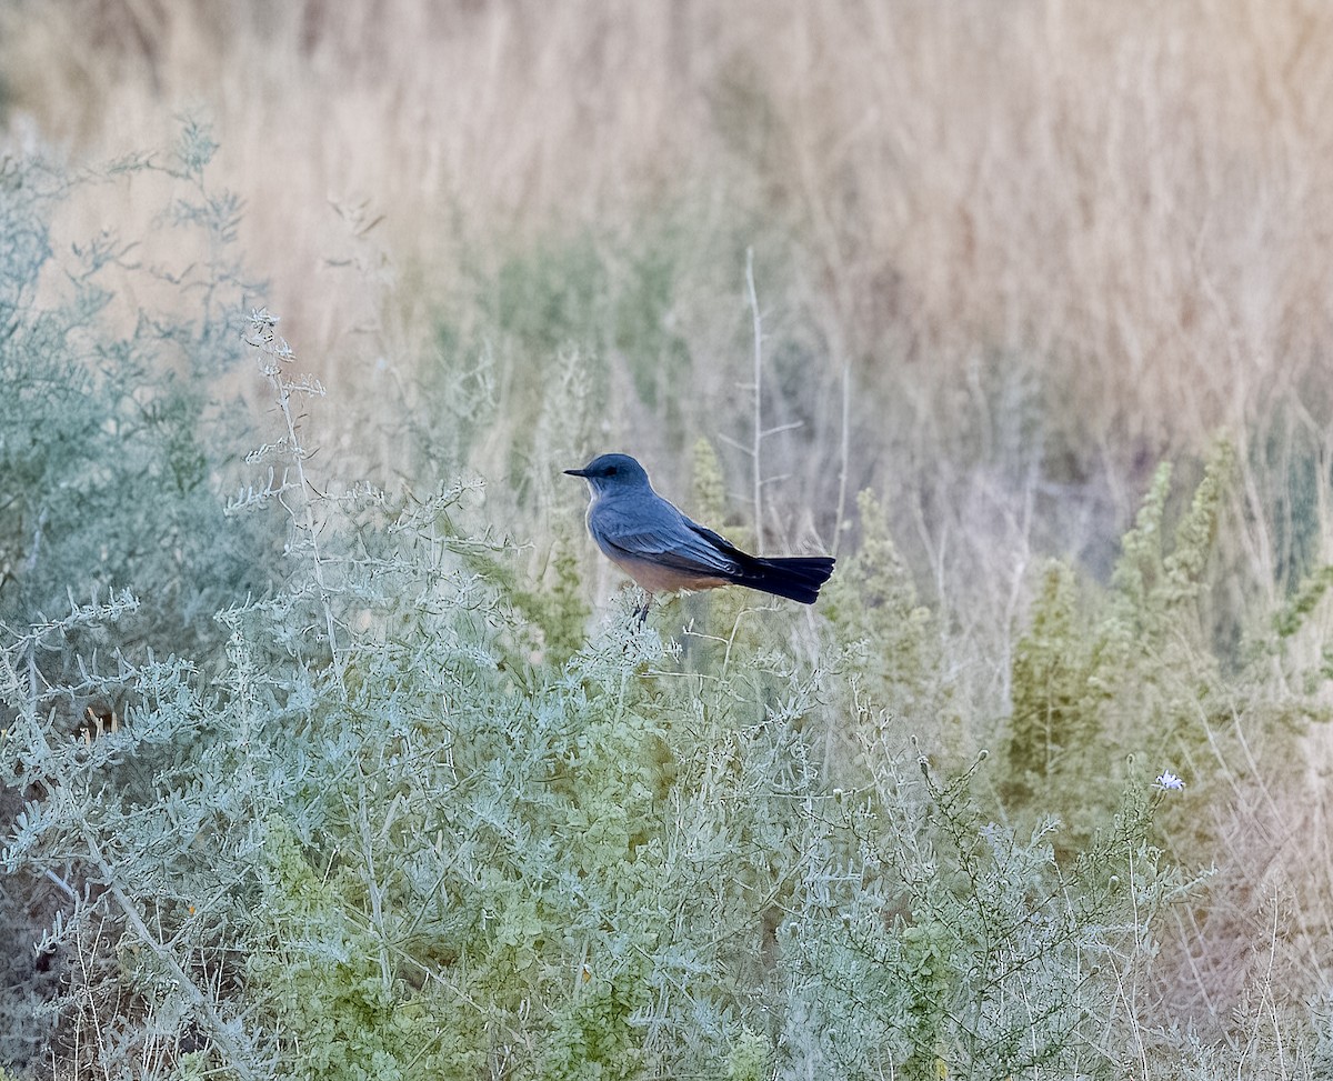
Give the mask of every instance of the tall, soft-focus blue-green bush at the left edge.
POLYGON ((167 164, 81 181, 175 177, 165 216, 189 264, 179 273, 140 267, 139 245, 111 232, 57 257, 51 220, 69 183, 29 161, 0 184, 0 620, 55 613, 71 589, 139 585, 131 633, 180 648, 208 640, 212 613, 268 578, 272 544, 224 529, 208 484, 217 444, 239 445, 209 393, 240 357, 245 288, 229 248, 236 200, 204 177, 212 149, 187 124, 167 164), (199 300, 127 312, 125 277, 167 279, 199 300))

